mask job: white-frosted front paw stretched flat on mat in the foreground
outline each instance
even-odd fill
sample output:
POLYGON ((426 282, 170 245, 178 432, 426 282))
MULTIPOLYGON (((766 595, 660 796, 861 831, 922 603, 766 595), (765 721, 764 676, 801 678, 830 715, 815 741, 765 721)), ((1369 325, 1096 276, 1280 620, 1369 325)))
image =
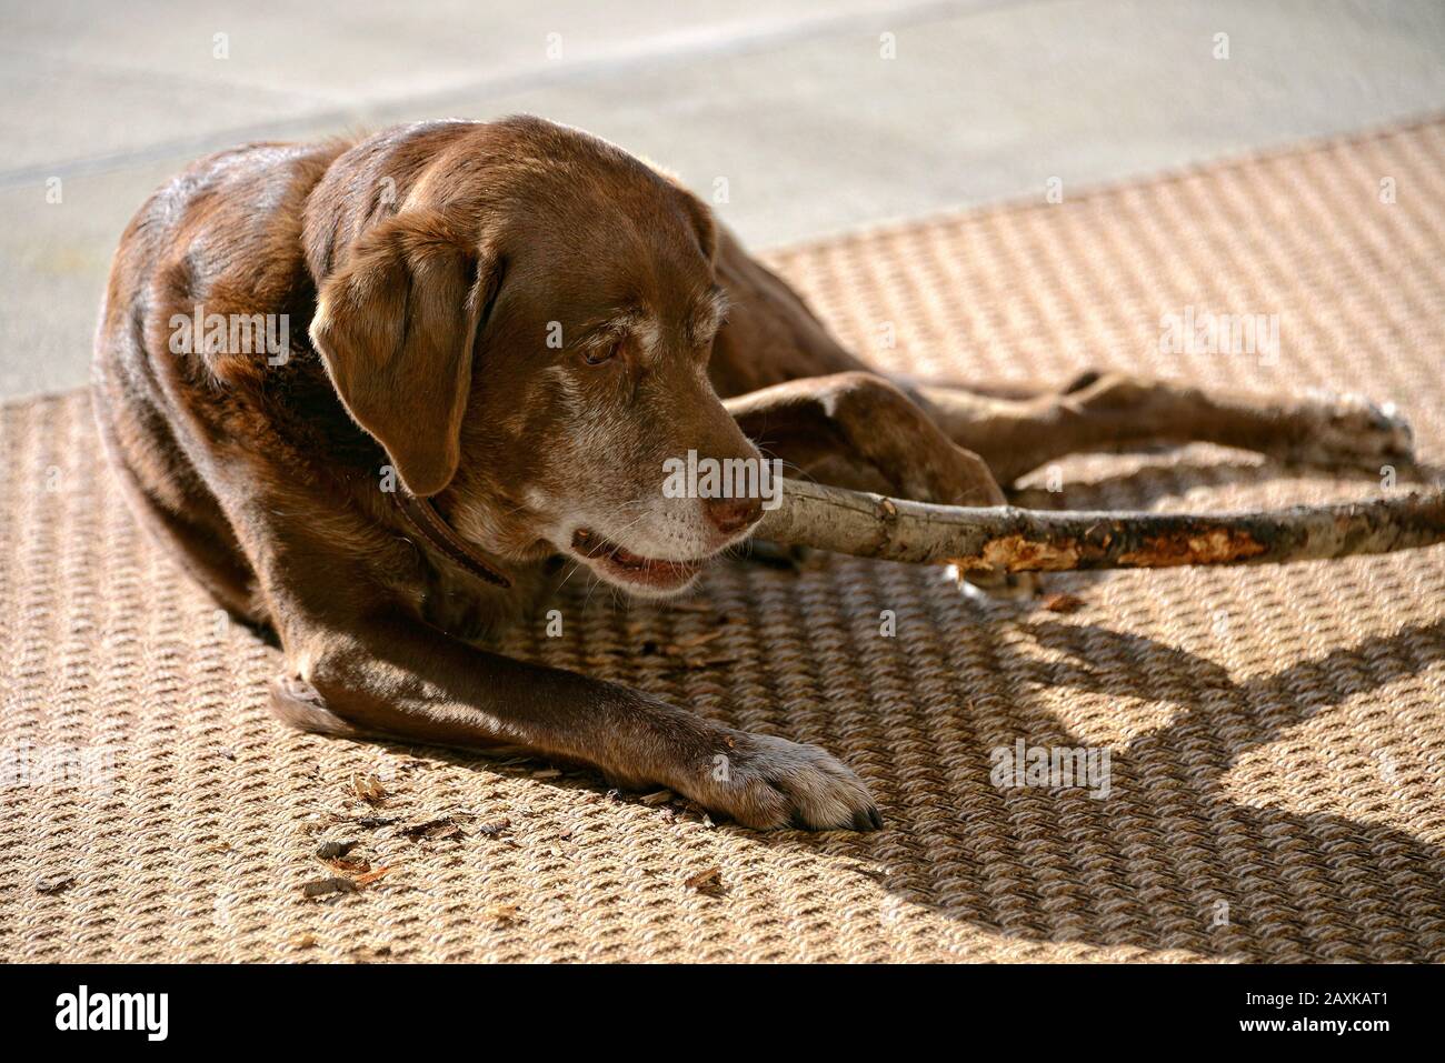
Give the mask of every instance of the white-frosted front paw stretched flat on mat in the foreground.
POLYGON ((868 789, 816 745, 747 731, 725 731, 698 780, 675 789, 704 807, 763 830, 879 830, 883 817, 868 789))

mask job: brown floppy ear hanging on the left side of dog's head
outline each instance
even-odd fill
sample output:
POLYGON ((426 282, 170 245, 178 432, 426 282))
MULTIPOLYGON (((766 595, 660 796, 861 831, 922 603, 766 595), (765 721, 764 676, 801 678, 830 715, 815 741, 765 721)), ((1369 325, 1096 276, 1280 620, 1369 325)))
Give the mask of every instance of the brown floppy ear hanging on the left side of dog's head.
POLYGON ((501 272, 441 214, 409 209, 367 231, 321 286, 311 342, 413 495, 457 474, 473 351, 501 272))

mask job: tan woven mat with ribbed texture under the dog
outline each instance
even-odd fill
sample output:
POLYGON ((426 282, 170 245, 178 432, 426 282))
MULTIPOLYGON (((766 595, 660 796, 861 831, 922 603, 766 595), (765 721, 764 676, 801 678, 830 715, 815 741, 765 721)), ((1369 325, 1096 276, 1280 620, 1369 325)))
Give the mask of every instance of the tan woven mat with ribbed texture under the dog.
MULTIPOLYGON (((773 260, 879 363, 1361 390, 1439 462, 1442 201, 1435 123, 773 260), (1159 354, 1189 306, 1277 313, 1277 360, 1159 354)), ((4 409, 0 456, 4 959, 1445 960, 1441 549, 1055 578, 1072 614, 980 607, 931 569, 733 562, 679 608, 578 591, 564 637, 517 633, 513 653, 825 745, 887 817, 760 835, 532 761, 286 732, 276 651, 137 532, 82 396, 4 409), (1108 796, 994 786, 1020 739, 1107 748, 1108 796), (389 871, 306 898, 325 839, 389 871)), ((1036 504, 1381 490, 1201 446, 1056 474, 1036 504)))

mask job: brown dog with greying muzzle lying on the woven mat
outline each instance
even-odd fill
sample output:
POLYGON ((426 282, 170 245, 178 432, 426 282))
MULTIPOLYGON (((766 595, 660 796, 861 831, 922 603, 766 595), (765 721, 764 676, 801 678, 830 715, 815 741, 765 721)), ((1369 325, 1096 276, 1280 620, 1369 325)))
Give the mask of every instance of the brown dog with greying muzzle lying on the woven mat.
POLYGON ((474 644, 564 559, 659 595, 744 539, 760 500, 669 497, 670 458, 757 461, 759 441, 799 475, 991 504, 1000 481, 1081 449, 1409 446, 1361 402, 1100 374, 1007 396, 890 383, 695 196, 538 118, 201 160, 121 240, 95 410, 137 511, 279 637, 285 721, 522 745, 759 828, 881 820, 822 750, 474 644), (289 350, 288 332, 311 342, 289 350))

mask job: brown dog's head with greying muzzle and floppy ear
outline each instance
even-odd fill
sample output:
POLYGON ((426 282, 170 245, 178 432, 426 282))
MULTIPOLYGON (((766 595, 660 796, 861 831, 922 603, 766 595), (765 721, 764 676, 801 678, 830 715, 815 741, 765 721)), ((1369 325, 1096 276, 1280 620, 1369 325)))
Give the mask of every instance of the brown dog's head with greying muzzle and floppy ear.
POLYGON ((393 130, 331 168, 305 243, 337 394, 464 537, 659 595, 762 516, 707 481, 762 464, 708 380, 714 221, 640 160, 538 118, 393 130))

